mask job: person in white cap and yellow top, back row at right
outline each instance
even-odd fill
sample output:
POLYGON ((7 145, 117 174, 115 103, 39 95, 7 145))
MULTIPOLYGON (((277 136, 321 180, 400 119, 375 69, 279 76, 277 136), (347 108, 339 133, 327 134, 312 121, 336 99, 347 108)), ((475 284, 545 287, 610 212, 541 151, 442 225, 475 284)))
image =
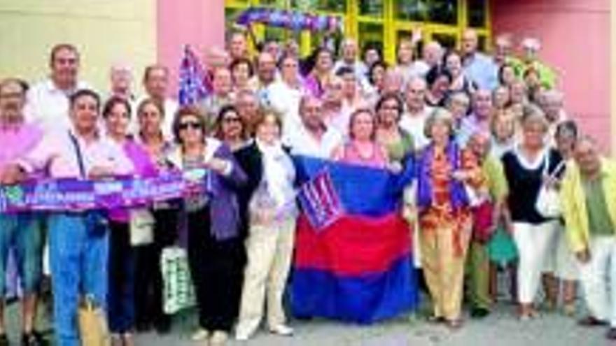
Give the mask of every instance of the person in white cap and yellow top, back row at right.
POLYGON ((521 59, 513 62, 517 75, 524 75, 529 69, 534 69, 539 74, 541 85, 546 89, 556 86, 556 73, 539 59, 541 41, 538 38, 526 37, 521 41, 521 59))

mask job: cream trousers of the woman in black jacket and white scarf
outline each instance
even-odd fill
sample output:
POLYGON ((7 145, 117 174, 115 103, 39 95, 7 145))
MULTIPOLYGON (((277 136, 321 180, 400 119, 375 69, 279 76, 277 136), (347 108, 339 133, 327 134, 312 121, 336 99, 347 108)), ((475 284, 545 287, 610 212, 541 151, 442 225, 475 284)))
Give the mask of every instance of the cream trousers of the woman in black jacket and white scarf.
POLYGON ((244 288, 237 333, 250 335, 259 326, 267 295, 267 324, 275 327, 286 323, 282 297, 293 257, 295 219, 274 221, 267 225, 251 225, 244 270, 244 288))

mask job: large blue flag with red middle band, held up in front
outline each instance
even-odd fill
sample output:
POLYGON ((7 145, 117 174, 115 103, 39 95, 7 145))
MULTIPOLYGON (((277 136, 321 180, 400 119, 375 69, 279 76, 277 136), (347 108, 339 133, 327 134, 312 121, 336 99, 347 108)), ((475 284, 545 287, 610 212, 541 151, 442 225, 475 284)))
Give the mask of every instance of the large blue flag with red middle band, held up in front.
POLYGON ((333 221, 324 217, 331 222, 318 229, 321 224, 302 210, 292 279, 294 314, 369 324, 413 310, 419 299, 411 231, 400 212, 412 167, 394 175, 308 157, 295 161, 301 181, 330 182, 328 194, 335 195, 344 213, 333 221))

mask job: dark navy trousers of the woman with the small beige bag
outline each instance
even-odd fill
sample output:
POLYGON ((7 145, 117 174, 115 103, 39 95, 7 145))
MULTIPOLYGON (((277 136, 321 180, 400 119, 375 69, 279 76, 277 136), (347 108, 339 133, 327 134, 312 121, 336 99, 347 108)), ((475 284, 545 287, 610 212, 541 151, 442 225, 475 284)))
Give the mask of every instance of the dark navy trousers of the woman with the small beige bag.
POLYGON ((109 330, 127 333, 135 322, 135 250, 130 245, 129 225, 111 222, 109 235, 109 330))

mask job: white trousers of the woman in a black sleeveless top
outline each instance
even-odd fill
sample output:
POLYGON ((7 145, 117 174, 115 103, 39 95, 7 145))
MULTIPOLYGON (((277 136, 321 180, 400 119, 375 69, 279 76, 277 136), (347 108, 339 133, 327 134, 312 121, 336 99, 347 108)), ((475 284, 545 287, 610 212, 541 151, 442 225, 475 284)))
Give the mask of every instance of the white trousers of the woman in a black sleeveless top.
POLYGON ((514 222, 513 240, 517 246, 519 264, 517 267, 518 302, 531 304, 539 289, 541 273, 552 267, 556 240, 556 222, 528 224, 514 222))

